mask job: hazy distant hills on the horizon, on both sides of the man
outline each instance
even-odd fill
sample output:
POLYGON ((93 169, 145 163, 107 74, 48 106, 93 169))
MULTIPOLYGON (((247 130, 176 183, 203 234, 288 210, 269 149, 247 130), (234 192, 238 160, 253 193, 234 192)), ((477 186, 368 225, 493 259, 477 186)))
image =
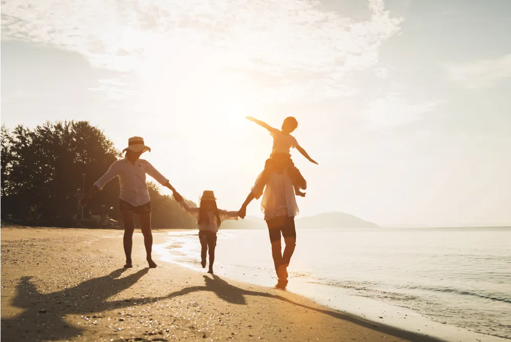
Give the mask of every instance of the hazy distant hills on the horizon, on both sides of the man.
MULTIPOLYGON (((378 228, 372 222, 343 212, 326 212, 303 218, 297 216, 295 222, 297 228, 378 228)), ((267 229, 267 226, 262 217, 247 216, 238 221, 224 221, 221 229, 267 229)))

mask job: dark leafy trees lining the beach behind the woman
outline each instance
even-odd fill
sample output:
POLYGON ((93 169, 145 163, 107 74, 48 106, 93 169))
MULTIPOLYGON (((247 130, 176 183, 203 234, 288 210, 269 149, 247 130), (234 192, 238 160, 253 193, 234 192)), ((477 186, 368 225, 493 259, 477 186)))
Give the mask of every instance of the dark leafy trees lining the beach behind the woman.
MULTIPOLYGON (((2 220, 25 225, 77 227, 83 180, 88 189, 122 158, 88 121, 47 121, 34 129, 19 125, 13 130, 2 125, 1 140, 2 220)), ((172 197, 161 194, 155 183, 148 188, 154 228, 196 228, 195 219, 172 197)), ((85 218, 92 215, 120 219, 117 180, 84 208, 85 218)))

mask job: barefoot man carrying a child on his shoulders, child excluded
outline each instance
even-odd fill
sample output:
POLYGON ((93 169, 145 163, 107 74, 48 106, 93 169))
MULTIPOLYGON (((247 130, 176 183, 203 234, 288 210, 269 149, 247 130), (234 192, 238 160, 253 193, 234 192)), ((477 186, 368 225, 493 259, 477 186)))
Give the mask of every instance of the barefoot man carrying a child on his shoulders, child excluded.
POLYGON ((239 211, 239 216, 244 218, 247 205, 254 198, 259 199, 264 190, 261 209, 270 235, 271 255, 278 277, 278 287, 285 287, 288 283, 287 267, 296 246, 294 216, 298 214, 298 205, 287 169, 286 161, 277 161, 268 175, 265 175, 266 171, 263 171, 239 211), (286 243, 284 253, 282 253, 281 233, 286 243))

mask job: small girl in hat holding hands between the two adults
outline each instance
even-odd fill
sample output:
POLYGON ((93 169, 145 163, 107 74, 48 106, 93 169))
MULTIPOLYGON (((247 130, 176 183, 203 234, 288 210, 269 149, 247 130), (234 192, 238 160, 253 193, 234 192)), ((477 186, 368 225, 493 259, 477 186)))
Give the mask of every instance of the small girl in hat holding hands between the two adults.
POLYGON ((206 267, 206 252, 209 249, 210 267, 207 273, 213 274, 213 262, 215 262, 215 247, 217 246, 217 232, 220 224, 226 219, 238 219, 238 211, 227 211, 217 208, 217 202, 213 191, 205 190, 200 198, 198 208, 192 208, 182 197, 176 198, 181 207, 197 218, 200 241, 200 264, 206 267))

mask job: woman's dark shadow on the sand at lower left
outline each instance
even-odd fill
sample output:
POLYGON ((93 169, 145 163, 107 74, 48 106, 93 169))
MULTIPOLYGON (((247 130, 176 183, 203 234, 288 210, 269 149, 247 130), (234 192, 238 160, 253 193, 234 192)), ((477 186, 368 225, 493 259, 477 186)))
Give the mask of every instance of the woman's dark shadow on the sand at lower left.
POLYGON ((109 275, 89 279, 74 287, 49 294, 39 292, 32 277, 22 277, 16 286, 12 305, 24 311, 8 319, 2 317, 2 337, 15 336, 18 341, 67 339, 78 335, 82 329, 67 325, 63 320, 66 314, 101 312, 162 299, 107 301, 111 296, 135 284, 148 273, 149 268, 119 278, 125 270, 126 268, 120 268, 109 275))

